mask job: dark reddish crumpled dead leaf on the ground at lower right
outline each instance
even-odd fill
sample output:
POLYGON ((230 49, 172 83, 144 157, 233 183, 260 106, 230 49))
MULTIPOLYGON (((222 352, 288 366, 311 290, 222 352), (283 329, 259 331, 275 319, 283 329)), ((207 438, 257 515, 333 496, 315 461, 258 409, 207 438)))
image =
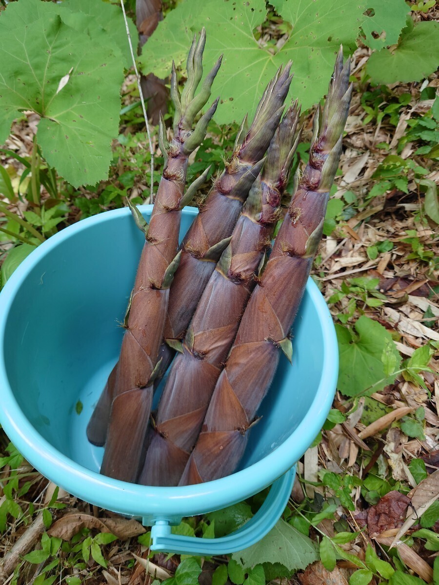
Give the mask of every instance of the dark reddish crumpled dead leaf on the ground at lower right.
POLYGON ((406 495, 400 494, 396 490, 389 491, 388 494, 380 498, 378 504, 357 514, 355 520, 359 526, 367 524, 369 536, 375 536, 402 526, 409 504, 410 500, 406 495), (367 512, 367 522, 365 522, 365 512, 367 512))

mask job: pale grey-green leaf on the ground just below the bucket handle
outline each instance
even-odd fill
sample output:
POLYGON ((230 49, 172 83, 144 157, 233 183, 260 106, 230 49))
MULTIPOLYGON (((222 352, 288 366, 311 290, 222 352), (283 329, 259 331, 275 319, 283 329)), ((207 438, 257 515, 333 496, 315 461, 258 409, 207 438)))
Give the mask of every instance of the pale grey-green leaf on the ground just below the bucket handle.
POLYGON ((308 536, 280 519, 261 541, 248 549, 233 553, 232 559, 245 568, 267 562, 280 563, 292 571, 305 569, 318 559, 318 554, 308 536))

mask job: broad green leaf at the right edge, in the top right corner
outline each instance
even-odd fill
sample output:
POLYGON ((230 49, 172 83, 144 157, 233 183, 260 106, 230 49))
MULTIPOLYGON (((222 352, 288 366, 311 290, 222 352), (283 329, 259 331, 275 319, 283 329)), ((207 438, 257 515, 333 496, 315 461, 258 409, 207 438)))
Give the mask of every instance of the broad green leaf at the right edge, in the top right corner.
POLYGON ((396 49, 373 53, 366 71, 377 83, 420 81, 439 66, 439 23, 430 20, 413 26, 409 19, 396 49))

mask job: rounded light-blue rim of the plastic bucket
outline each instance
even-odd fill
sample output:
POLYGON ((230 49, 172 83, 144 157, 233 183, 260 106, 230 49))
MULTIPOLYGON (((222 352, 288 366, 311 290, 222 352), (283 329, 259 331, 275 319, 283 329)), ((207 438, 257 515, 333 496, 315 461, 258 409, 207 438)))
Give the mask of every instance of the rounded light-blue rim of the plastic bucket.
MULTIPOLYGON (((144 214, 152 205, 139 206, 144 214)), ((196 215, 196 208, 183 214, 196 215)), ((327 417, 334 398, 338 376, 338 349, 335 328, 327 304, 312 278, 306 292, 320 319, 324 339, 323 367, 317 391, 305 417, 291 435, 271 453, 230 476, 195 486, 140 486, 112 479, 76 463, 46 441, 19 407, 9 384, 5 364, 5 329, 15 296, 33 266, 64 240, 94 225, 130 214, 128 208, 115 209, 83 219, 61 230, 23 260, 0 292, 0 423, 9 439, 26 460, 43 476, 68 493, 106 510, 135 516, 180 517, 203 514, 245 500, 273 483, 303 456, 327 417)))

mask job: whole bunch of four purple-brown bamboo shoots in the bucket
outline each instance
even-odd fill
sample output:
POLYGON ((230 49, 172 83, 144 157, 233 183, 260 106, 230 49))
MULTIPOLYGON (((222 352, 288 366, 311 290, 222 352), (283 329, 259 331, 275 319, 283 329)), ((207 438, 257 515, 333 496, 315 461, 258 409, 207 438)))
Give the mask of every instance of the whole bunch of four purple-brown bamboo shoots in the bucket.
POLYGON ((101 473, 153 486, 218 479, 238 466, 280 354, 291 361, 291 326, 321 239, 351 99, 340 50, 323 112, 314 116, 308 164, 287 194, 300 108, 296 101, 285 110, 291 64, 280 68, 179 247, 181 209, 209 170, 184 193, 188 157, 219 99, 194 124, 221 64, 196 94, 204 43, 203 30, 181 96, 172 68, 174 138, 166 142, 162 119, 164 170, 149 225, 129 204, 145 246, 119 360, 87 428, 92 443, 105 445, 101 473), (152 413, 153 391, 171 363, 152 413))

